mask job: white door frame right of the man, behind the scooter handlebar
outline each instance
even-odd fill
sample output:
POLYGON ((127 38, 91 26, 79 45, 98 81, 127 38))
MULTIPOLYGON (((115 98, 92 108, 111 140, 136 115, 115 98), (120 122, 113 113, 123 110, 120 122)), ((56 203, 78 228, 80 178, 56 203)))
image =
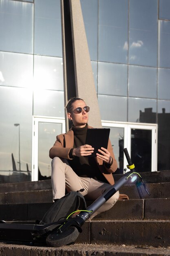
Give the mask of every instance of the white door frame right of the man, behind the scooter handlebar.
MULTIPOLYGON (((131 129, 143 129, 152 131, 152 159, 151 171, 157 171, 157 124, 132 123, 132 122, 116 122, 102 120, 102 126, 124 128, 124 148, 127 148, 131 157, 131 129)), ((127 160, 124 155, 124 169, 127 167, 127 160)), ((134 163, 135 164, 135 163, 134 163)))

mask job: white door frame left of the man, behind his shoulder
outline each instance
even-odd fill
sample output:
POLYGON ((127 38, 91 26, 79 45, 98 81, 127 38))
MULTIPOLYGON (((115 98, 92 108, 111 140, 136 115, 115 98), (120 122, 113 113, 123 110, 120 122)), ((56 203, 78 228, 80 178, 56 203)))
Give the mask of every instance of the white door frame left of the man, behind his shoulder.
POLYGON ((60 123, 62 124, 62 133, 65 133, 65 118, 62 117, 47 117, 33 116, 32 123, 32 175, 31 181, 38 180, 38 125, 39 122, 45 123, 60 123))

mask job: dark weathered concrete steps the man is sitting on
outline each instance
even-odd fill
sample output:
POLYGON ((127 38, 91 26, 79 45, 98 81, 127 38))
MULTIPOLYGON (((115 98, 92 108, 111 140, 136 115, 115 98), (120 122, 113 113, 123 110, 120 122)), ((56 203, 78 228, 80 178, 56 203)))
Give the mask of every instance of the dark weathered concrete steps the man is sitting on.
MULTIPOLYGON (((60 255, 150 255, 147 250, 151 250, 152 247, 166 247, 166 250, 162 249, 161 255, 170 255, 170 253, 166 254, 170 247, 169 172, 147 173, 149 178, 145 173, 141 173, 145 182, 148 179, 146 187, 150 196, 144 191, 144 199, 140 199, 136 186, 126 184, 120 189, 120 193, 128 194, 130 200, 118 200, 112 209, 97 215, 91 222, 85 222, 82 227, 83 233, 79 235, 75 245, 56 249, 56 251, 47 249, 46 252, 55 252, 55 254, 46 255, 59 255, 58 252, 63 253, 60 255), (80 244, 82 247, 79 247, 80 244), (78 249, 73 249, 85 248, 83 244, 86 244, 87 250, 82 249, 80 252, 78 249), (89 249, 91 248, 89 245, 96 248, 97 254, 94 254, 93 249, 89 249), (101 249, 104 245, 108 248, 107 254, 102 254, 105 253, 101 249), (111 245, 115 249, 111 249, 111 245), (128 251, 122 245, 131 249, 128 251), (146 250, 144 254, 138 251, 142 247, 146 250), (67 251, 68 254, 65 248, 71 249, 67 251), (117 251, 118 248, 119 251, 117 251), (75 254, 76 250, 77 254, 75 254)), ((116 180, 122 175, 115 176, 116 180)), ((0 220, 12 222, 41 220, 52 204, 51 180, 0 185, 0 220)), ((1 243, 0 252, 2 248, 9 249, 1 243)), ((36 248, 31 247, 30 250, 36 251, 36 248)), ((19 250, 18 245, 15 249, 19 250)), ((158 251, 153 255, 160 255, 158 251)), ((44 248, 41 253, 44 255, 44 248)))

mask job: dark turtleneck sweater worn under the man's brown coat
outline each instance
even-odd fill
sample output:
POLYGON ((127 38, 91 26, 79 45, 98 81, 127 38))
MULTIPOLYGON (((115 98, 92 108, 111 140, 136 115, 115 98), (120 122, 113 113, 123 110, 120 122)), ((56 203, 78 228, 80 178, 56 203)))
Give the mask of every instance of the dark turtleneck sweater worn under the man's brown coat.
MULTIPOLYGON (((82 146, 86 143, 87 128, 87 124, 83 128, 72 126, 74 132, 74 148, 82 146)), ((107 182, 105 177, 100 172, 94 157, 73 157, 72 153, 73 150, 71 150, 69 154, 70 158, 73 159, 68 160, 68 163, 79 177, 89 177, 102 182, 107 182)))

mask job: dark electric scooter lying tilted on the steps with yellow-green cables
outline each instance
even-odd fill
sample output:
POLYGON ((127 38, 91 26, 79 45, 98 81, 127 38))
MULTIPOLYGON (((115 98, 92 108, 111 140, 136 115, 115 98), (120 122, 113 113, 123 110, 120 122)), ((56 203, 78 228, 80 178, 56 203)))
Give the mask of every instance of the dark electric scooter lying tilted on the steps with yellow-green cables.
MULTIPOLYGON (((95 202, 82 210, 75 218, 70 218, 73 213, 66 219, 53 222, 46 225, 39 224, 7 224, 0 221, 0 240, 1 241, 20 241, 29 242, 33 245, 35 242, 42 242, 52 247, 73 244, 79 233, 82 232, 82 225, 88 220, 97 209, 99 209, 110 197, 112 197, 124 184, 129 180, 132 182, 136 179, 136 185, 140 197, 142 197, 141 186, 149 194, 141 178, 141 175, 135 171, 135 165, 132 164, 127 148, 124 153, 128 162, 127 168, 130 170, 125 173, 113 186, 110 186, 95 202)), ((150 195, 150 194, 149 194, 150 195)))

